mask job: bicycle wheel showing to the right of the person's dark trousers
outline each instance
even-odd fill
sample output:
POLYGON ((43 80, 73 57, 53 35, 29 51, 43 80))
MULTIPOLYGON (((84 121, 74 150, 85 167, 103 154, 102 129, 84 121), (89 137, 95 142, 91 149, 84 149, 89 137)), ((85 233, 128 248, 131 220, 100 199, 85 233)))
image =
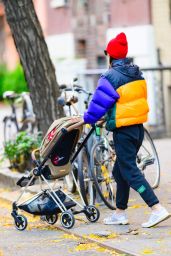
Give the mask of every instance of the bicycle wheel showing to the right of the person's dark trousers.
POLYGON ((149 132, 144 129, 144 140, 137 154, 137 165, 151 187, 157 188, 160 183, 160 162, 149 132))

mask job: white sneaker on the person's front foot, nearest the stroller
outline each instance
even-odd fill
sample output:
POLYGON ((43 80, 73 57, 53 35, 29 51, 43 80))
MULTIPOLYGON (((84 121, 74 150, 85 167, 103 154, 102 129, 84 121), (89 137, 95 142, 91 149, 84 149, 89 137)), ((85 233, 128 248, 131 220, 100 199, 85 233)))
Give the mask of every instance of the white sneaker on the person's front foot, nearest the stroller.
POLYGON ((129 223, 125 213, 116 214, 116 212, 105 218, 103 222, 105 225, 127 225, 129 223))

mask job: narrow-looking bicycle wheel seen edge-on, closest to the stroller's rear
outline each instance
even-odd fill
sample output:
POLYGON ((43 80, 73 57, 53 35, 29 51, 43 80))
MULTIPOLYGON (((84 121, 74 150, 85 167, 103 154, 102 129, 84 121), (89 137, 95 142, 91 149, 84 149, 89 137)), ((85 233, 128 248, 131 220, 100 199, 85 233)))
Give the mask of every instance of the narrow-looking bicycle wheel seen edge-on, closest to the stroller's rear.
POLYGON ((78 181, 80 192, 86 205, 95 203, 95 187, 90 173, 89 156, 85 147, 80 151, 78 158, 78 181))

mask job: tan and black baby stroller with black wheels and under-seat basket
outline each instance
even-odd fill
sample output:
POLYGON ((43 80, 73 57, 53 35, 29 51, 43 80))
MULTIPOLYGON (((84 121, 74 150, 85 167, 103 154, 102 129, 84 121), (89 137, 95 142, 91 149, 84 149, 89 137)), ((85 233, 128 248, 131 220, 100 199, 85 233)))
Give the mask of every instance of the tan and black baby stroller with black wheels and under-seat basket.
POLYGON ((33 215, 39 215, 41 220, 51 225, 56 223, 60 213, 61 224, 67 229, 73 227, 75 214, 84 213, 90 222, 96 222, 99 219, 99 210, 93 205, 85 205, 74 175, 73 179, 83 204, 74 200, 61 188, 56 189, 49 182, 51 180, 57 181, 70 172, 70 165, 76 159, 94 130, 92 128, 74 153, 83 124, 80 116, 64 117, 54 121, 46 133, 40 149, 32 152, 32 159, 36 167, 30 172, 28 177, 22 177, 17 182, 17 185, 24 187, 24 190, 17 201, 13 203, 11 213, 18 230, 22 231, 27 227, 27 219, 25 216, 18 214, 19 209, 33 215), (39 154, 39 158, 37 154, 39 154), (36 180, 40 181, 40 185, 44 182, 47 185, 47 189, 43 189, 41 186, 39 193, 19 203, 28 186, 35 184, 36 180), (73 209, 75 206, 78 206, 80 210, 73 209))

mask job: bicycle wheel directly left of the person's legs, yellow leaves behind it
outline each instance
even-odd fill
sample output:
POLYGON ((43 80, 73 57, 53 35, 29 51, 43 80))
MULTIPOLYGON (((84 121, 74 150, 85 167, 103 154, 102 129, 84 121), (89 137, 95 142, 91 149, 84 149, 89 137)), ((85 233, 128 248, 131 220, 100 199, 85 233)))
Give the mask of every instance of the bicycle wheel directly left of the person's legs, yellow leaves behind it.
POLYGON ((91 151, 90 170, 98 194, 105 205, 114 210, 116 185, 112 170, 115 162, 115 154, 105 140, 96 143, 91 151))

